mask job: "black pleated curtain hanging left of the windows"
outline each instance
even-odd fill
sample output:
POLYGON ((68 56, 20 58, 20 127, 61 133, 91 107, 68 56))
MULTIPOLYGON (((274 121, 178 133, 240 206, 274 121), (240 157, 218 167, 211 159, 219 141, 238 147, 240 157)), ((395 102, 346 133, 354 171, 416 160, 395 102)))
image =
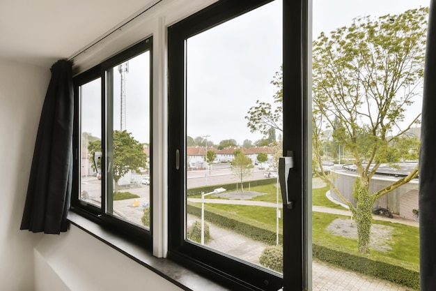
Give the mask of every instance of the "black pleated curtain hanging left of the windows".
POLYGON ((57 61, 51 71, 20 229, 59 234, 68 227, 72 186, 72 63, 57 61))

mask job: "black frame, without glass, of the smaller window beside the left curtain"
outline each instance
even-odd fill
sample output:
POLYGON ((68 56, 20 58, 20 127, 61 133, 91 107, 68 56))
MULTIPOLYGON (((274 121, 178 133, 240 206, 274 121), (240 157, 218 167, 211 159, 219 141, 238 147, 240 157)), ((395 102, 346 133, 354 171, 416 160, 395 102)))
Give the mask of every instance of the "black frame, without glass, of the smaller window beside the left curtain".
MULTIPOLYGON (((110 68, 123 63, 128 59, 132 59, 143 52, 150 52, 150 144, 153 142, 153 36, 141 40, 139 43, 128 47, 126 50, 119 52, 114 57, 111 57, 102 63, 94 66, 93 68, 86 70, 84 73, 73 77, 73 89, 75 96, 75 115, 74 115, 74 130, 73 130, 73 149, 75 151, 74 165, 73 165, 73 184, 72 184, 72 196, 71 196, 71 210, 77 212, 78 214, 88 218, 89 220, 98 223, 105 227, 105 229, 113 231, 117 234, 121 234, 126 237, 129 241, 134 244, 139 244, 145 248, 151 249, 153 245, 153 185, 150 184, 150 230, 146 230, 138 225, 123 221, 116 216, 109 215, 104 211, 106 209, 106 199, 104 195, 107 195, 107 174, 102 170, 102 201, 101 207, 97 207, 93 204, 84 204, 79 199, 78 193, 80 192, 81 185, 81 158, 79 151, 81 150, 81 125, 80 125, 80 100, 79 100, 79 88, 88 82, 100 78, 101 80, 101 127, 102 127, 102 169, 106 169, 106 140, 107 140, 107 123, 111 120, 107 119, 107 72, 110 68)), ((153 156, 153 149, 150 147, 150 164, 153 165, 151 161, 153 156)), ((152 179, 153 171, 150 172, 150 179, 152 179)), ((109 195, 109 194, 108 194, 109 195)))

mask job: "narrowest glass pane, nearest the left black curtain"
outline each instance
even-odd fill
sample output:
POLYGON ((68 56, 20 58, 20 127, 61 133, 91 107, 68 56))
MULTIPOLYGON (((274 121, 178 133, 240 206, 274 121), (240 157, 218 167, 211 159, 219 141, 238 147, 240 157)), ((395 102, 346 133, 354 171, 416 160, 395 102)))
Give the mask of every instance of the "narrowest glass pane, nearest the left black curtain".
POLYGON ((81 126, 79 199, 84 204, 100 207, 102 196, 101 159, 99 158, 99 153, 102 151, 101 79, 98 78, 81 85, 79 94, 81 126), (97 167, 95 167, 94 157, 97 167))

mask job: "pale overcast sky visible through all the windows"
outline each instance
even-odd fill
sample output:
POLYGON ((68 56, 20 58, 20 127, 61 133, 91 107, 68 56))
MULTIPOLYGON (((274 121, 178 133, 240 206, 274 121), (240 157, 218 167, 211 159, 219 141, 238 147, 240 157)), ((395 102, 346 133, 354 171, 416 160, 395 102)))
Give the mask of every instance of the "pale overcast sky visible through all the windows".
MULTIPOLYGON (((328 33, 350 25, 355 17, 398 14, 429 3, 430 0, 313 0, 313 38, 321 31, 328 33)), ((215 144, 228 139, 239 144, 244 140, 260 140, 263 136, 250 133, 244 117, 256 100, 272 103, 278 88, 270 82, 282 63, 281 47, 281 0, 189 38, 187 135, 194 138, 210 135, 208 142, 215 144)), ((136 77, 146 80, 148 75, 137 64, 148 66, 143 59, 130 62, 126 74, 126 124, 139 142, 149 142, 148 82, 134 82, 136 77)), ((118 96, 118 70, 114 76, 118 96)), ((100 136, 100 114, 95 103, 98 98, 91 98, 94 95, 91 92, 98 91, 99 85, 93 82, 87 87, 86 98, 82 99, 82 131, 100 136)), ((421 103, 417 102, 411 110, 420 112, 421 103)), ((119 129, 119 118, 118 98, 114 105, 114 129, 119 129)))

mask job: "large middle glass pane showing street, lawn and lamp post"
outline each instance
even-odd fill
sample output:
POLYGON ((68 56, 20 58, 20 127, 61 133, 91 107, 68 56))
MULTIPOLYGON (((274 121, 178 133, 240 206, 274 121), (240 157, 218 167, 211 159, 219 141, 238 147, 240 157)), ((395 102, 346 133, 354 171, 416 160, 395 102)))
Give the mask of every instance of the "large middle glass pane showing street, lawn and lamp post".
POLYGON ((273 1, 186 41, 187 240, 279 272, 281 114, 254 119, 280 107, 281 11, 273 1), (277 266, 262 264, 277 244, 277 266))

